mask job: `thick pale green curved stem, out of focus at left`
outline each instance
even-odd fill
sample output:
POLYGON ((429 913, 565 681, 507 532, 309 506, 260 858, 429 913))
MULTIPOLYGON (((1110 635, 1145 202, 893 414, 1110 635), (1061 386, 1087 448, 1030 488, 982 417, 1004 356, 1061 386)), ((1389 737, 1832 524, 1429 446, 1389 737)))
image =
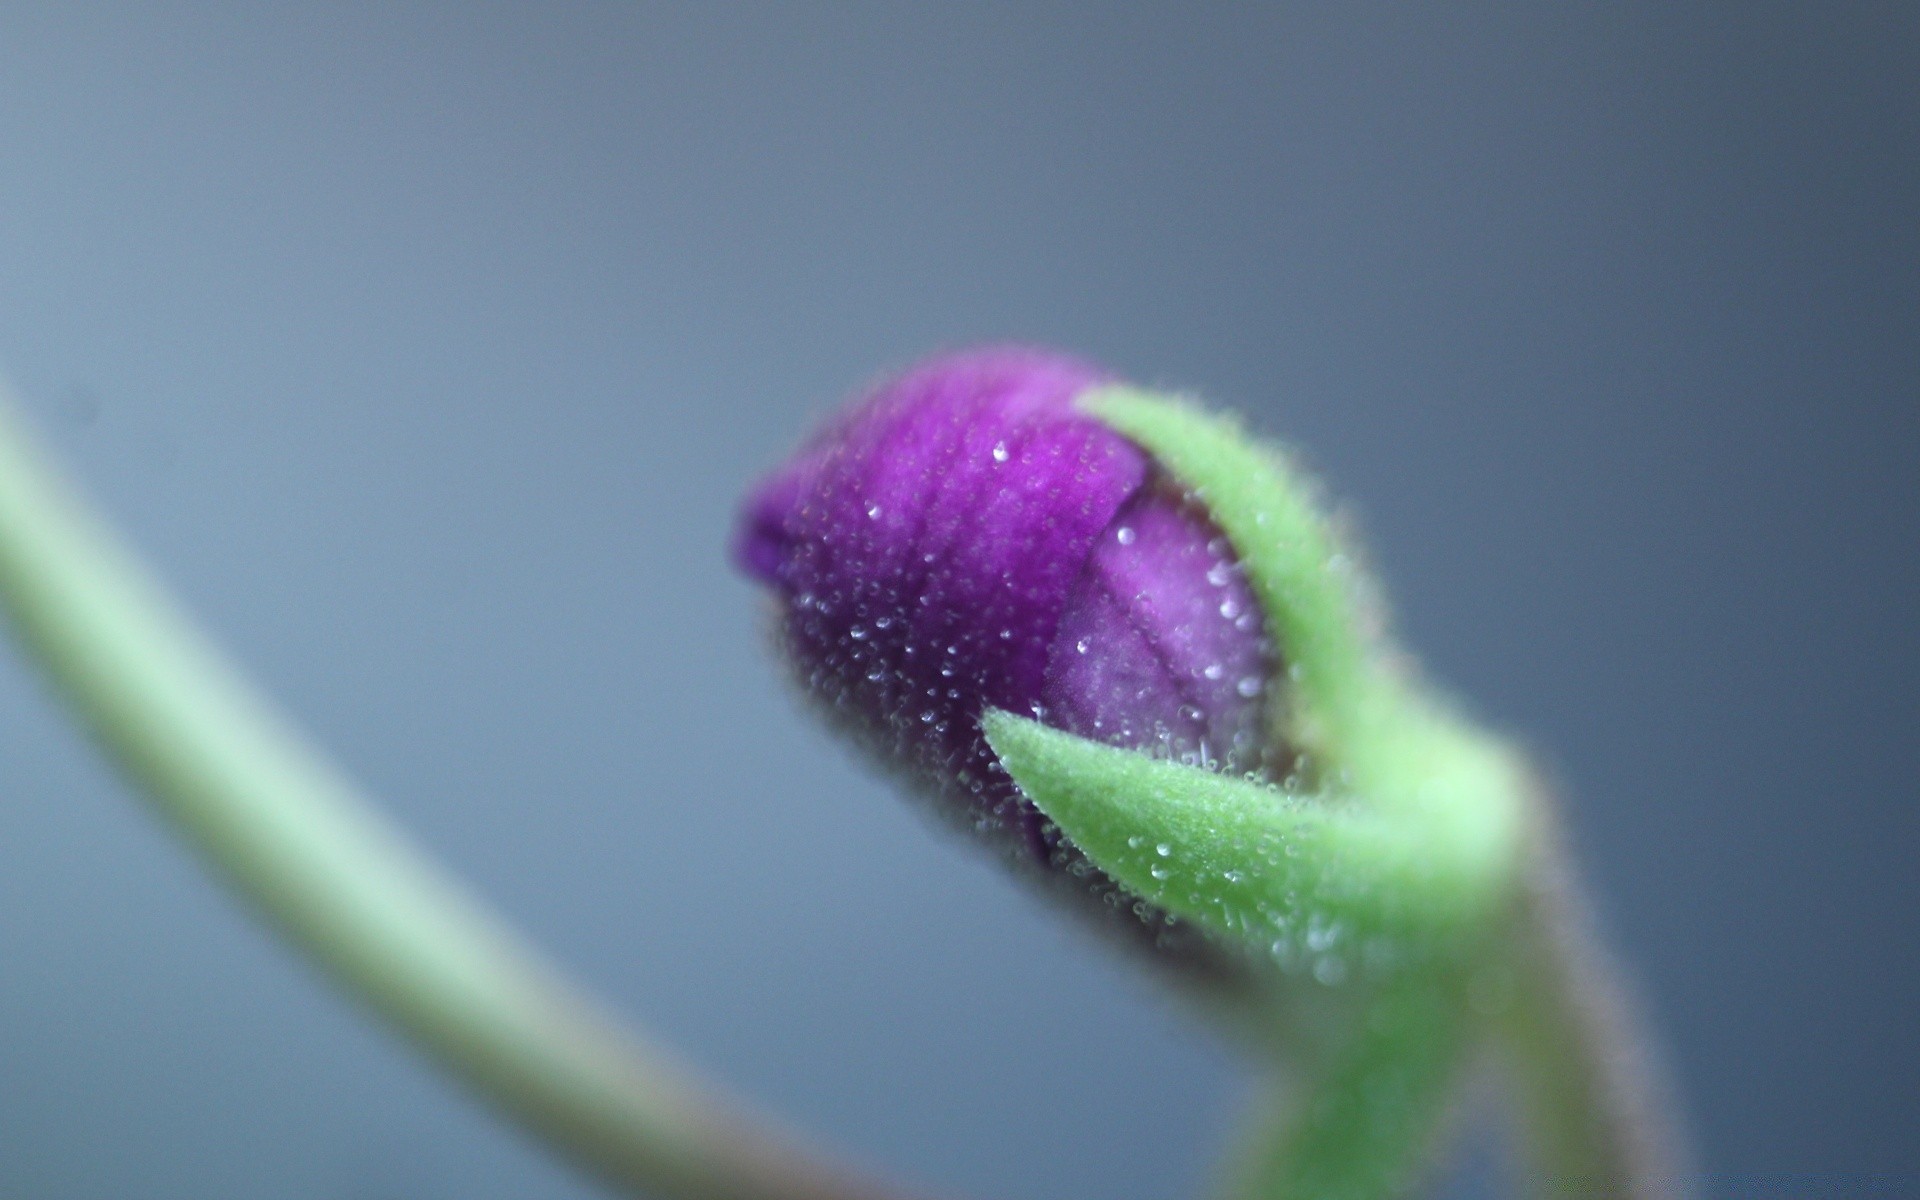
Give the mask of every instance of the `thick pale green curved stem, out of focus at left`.
POLYGON ((697 1085, 426 862, 248 685, 0 396, 0 609, 154 808, 336 983, 616 1188, 879 1200, 697 1085))

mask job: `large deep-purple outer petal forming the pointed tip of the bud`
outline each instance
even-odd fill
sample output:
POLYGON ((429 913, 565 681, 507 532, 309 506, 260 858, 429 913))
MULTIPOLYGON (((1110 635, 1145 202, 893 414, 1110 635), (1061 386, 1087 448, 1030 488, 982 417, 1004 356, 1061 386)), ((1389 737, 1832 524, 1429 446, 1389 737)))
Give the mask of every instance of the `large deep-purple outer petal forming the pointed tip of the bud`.
POLYGON ((1146 478, 1133 444, 1071 407, 1104 378, 1033 349, 935 359, 762 484, 735 541, 783 599, 808 691, 987 808, 1012 789, 979 714, 1041 703, 1081 566, 1146 478))

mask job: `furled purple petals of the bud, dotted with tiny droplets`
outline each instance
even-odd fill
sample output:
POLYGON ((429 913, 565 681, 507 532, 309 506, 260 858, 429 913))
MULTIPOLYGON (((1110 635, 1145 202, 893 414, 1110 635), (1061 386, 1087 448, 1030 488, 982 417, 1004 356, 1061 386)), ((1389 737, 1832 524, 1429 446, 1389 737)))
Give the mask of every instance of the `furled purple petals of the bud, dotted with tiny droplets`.
POLYGON ((1254 595, 1206 513, 1073 409, 1100 382, 1039 349, 933 359, 768 478, 735 541, 835 724, 1054 866, 1058 839, 981 737, 985 708, 1221 770, 1267 751, 1254 595))

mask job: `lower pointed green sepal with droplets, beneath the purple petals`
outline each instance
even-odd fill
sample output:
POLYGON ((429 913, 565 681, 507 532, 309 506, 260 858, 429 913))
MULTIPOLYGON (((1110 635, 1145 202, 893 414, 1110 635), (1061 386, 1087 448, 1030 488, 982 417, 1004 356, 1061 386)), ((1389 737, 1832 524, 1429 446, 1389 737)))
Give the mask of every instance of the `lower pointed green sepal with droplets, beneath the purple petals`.
POLYGON ((1020 789, 1127 891, 1323 983, 1428 958, 1486 893, 1421 822, 1116 749, 1012 712, 981 720, 1020 789))

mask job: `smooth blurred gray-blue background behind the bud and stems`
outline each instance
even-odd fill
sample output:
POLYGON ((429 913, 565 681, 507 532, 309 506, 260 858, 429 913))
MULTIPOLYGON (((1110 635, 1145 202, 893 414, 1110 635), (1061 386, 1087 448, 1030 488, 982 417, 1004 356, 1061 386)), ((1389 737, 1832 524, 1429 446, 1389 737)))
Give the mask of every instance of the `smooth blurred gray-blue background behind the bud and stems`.
MULTIPOLYGON (((1716 1192, 1920 1187, 1920 8, 0 10, 0 365, 405 826, 874 1164, 1192 1194, 1229 1054, 812 728, 722 553, 983 338, 1354 505, 1567 783, 1716 1192)), ((593 1194, 4 647, 0 780, 0 1194, 593 1194)))

